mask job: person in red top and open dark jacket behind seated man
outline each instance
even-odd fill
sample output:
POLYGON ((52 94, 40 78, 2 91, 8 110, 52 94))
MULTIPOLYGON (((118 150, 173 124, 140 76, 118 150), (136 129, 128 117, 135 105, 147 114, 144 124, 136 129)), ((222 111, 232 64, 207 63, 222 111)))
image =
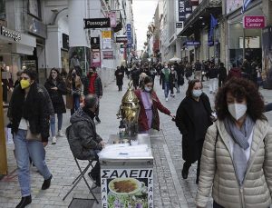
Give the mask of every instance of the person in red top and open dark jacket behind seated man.
POLYGON ((100 100, 102 99, 103 95, 103 88, 102 88, 102 81, 100 76, 97 74, 96 68, 91 67, 89 74, 87 75, 85 82, 84 82, 84 95, 87 94, 96 94, 98 97, 98 105, 95 111, 95 120, 98 124, 101 123, 99 118, 99 107, 100 107, 100 100))

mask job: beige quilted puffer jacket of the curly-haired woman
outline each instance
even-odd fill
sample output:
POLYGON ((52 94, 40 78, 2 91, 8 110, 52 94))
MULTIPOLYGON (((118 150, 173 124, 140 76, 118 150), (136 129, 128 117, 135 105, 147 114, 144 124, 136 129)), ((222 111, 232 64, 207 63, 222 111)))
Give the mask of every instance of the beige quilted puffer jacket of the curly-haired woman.
POLYGON ((213 199, 225 208, 269 207, 272 193, 272 129, 266 121, 257 120, 248 169, 241 187, 230 155, 230 139, 223 122, 209 127, 201 156, 197 206, 206 206, 212 187, 213 199), (217 129, 219 136, 216 143, 217 129))

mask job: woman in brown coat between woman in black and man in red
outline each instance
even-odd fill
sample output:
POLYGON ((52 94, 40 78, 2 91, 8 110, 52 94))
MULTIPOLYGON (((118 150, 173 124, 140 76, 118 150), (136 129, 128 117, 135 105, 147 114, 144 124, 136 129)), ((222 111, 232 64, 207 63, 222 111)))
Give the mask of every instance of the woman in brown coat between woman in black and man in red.
POLYGON ((69 72, 66 79, 66 108, 71 109, 71 115, 80 107, 82 81, 76 69, 69 72))

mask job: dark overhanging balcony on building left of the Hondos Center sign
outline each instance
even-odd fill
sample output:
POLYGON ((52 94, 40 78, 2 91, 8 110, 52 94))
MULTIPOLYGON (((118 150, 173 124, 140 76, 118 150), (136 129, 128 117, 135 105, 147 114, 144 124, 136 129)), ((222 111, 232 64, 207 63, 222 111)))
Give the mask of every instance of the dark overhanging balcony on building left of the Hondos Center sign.
POLYGON ((222 15, 221 0, 203 0, 185 20, 184 28, 179 36, 189 36, 209 25, 210 14, 219 18, 222 15))

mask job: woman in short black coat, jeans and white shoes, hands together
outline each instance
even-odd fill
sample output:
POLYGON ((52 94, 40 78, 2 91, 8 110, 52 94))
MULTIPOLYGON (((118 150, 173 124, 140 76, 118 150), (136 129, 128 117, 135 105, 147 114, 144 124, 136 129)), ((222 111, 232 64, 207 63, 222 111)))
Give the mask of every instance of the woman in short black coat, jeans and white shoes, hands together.
MULTIPOLYGON (((63 77, 59 71, 53 68, 50 72, 48 79, 44 84, 48 91, 53 104, 54 114, 58 116, 58 136, 63 136, 62 125, 63 125, 63 114, 66 113, 66 108, 63 100, 63 95, 66 94, 66 85, 63 81, 63 77)), ((55 116, 51 116, 50 127, 52 134, 52 144, 56 144, 56 133, 55 133, 55 116)))

